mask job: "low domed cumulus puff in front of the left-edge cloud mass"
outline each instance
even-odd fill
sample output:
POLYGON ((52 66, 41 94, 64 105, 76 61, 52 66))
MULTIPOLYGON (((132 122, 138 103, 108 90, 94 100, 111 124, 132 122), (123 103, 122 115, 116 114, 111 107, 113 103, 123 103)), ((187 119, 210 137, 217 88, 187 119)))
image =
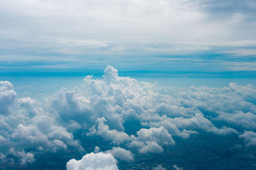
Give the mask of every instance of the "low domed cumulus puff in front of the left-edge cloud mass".
POLYGON ((54 125, 54 120, 43 115, 33 117, 30 124, 19 124, 10 136, 15 145, 23 148, 67 149, 67 145, 79 146, 65 127, 54 125))

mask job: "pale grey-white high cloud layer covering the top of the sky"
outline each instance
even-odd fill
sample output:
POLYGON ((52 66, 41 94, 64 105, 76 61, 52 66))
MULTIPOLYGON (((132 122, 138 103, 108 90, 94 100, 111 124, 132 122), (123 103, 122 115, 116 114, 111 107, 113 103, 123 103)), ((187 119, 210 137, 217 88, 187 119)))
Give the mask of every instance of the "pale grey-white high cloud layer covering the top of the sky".
MULTIPOLYGON (((11 58, 31 61, 35 57, 56 61, 61 57, 61 60, 76 59, 95 66, 95 55, 101 56, 97 63, 104 60, 105 65, 109 63, 107 57, 113 59, 109 57, 113 53, 127 61, 130 59, 125 56, 134 56, 134 53, 220 52, 223 43, 225 48, 232 46, 230 50, 246 50, 243 45, 237 45, 241 41, 246 42, 245 47, 255 48, 250 45, 255 39, 255 2, 249 0, 150 0, 140 3, 115 0, 17 3, 4 0, 0 8, 0 48, 4 53, 1 59, 8 61, 11 58), (49 27, 45 27, 45 23, 49 27), (87 57, 80 57, 81 54, 87 57)), ((164 62, 158 66, 163 66, 164 62)))

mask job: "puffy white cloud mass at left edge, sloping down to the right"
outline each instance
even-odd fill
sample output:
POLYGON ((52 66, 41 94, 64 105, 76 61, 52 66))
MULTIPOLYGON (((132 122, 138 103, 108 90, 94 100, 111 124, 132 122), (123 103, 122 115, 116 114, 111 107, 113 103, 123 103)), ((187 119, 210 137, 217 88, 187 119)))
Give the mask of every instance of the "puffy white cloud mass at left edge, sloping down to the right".
POLYGON ((30 97, 16 100, 12 88, 12 83, 0 81, 0 107, 4 113, 0 115, 1 154, 17 157, 25 165, 35 161, 36 150, 56 152, 67 150, 68 146, 83 150, 73 134, 45 112, 40 103, 30 97))

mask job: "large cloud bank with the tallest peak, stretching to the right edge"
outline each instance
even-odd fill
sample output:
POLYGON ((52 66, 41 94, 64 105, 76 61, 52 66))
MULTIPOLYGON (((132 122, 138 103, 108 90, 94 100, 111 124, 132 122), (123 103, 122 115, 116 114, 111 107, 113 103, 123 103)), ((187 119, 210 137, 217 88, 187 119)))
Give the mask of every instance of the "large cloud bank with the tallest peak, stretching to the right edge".
MULTIPOLYGON (((216 127, 213 120, 253 128, 250 119, 256 112, 253 103, 256 90, 252 85, 230 83, 223 88, 191 87, 173 91, 120 77, 111 66, 104 70, 103 79, 86 76, 83 87, 63 89, 60 94, 61 97, 50 101, 61 118, 67 117, 79 124, 86 122, 88 127, 96 122, 90 134, 116 143, 128 140, 122 132, 127 120, 139 120, 146 127, 164 127, 172 136, 189 138, 191 134, 198 134, 198 130, 223 135, 238 133, 225 124, 216 127), (236 123, 236 117, 243 121, 236 123)), ((159 148, 156 143, 148 145, 159 148)))

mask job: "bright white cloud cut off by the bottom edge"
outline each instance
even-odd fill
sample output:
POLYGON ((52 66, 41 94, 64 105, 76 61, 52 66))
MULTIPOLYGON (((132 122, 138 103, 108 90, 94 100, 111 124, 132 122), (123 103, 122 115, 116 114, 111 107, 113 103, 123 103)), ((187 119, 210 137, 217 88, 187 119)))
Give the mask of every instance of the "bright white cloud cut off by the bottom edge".
POLYGON ((67 162, 67 170, 106 169, 118 170, 115 158, 111 153, 88 153, 81 160, 71 159, 67 162))

